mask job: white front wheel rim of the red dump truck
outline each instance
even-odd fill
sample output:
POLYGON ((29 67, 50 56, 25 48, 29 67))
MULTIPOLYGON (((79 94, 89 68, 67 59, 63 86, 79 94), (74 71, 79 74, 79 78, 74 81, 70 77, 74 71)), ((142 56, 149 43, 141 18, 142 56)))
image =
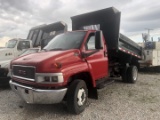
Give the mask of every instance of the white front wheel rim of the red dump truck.
POLYGON ((78 94, 77 94, 78 106, 84 105, 85 101, 86 101, 86 91, 84 88, 81 88, 78 90, 78 94))

